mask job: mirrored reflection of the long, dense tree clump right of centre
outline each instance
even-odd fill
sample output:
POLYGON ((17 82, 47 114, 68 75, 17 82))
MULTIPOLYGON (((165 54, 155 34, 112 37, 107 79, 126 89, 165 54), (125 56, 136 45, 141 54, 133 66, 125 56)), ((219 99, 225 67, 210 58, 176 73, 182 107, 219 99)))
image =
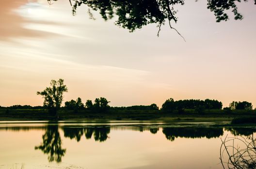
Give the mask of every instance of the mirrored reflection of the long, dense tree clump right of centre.
POLYGON ((167 140, 175 138, 217 138, 223 135, 222 127, 163 127, 163 134, 167 140))

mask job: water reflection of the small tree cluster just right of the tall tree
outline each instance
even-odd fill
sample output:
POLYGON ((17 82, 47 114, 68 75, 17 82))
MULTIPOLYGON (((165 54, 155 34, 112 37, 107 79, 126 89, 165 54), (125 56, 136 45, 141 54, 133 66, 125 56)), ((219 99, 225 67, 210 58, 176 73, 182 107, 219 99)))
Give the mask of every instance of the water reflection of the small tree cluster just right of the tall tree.
POLYGON ((106 141, 108 134, 110 133, 110 127, 63 127, 64 137, 70 139, 76 139, 80 141, 80 138, 85 135, 86 139, 91 139, 94 135, 95 141, 106 141))

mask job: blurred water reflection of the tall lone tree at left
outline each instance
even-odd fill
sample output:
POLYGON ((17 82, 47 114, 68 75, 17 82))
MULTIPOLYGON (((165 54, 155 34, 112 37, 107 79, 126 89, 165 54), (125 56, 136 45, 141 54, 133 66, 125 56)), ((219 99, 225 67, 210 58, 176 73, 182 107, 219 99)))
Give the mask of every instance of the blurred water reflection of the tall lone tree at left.
POLYGON ((48 161, 62 161, 66 149, 62 148, 62 141, 58 130, 58 125, 48 125, 45 134, 42 136, 43 143, 35 146, 35 150, 39 149, 44 154, 48 154, 48 161))

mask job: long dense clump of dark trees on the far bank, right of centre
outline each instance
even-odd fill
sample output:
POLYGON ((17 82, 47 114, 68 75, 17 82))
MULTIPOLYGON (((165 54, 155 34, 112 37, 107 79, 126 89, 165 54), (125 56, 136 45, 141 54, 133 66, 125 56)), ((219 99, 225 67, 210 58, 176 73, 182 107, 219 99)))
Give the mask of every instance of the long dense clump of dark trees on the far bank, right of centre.
POLYGON ((162 104, 161 108, 161 110, 165 112, 172 112, 174 110, 183 112, 183 109, 222 109, 222 102, 211 99, 186 99, 174 101, 173 98, 170 98, 162 104))

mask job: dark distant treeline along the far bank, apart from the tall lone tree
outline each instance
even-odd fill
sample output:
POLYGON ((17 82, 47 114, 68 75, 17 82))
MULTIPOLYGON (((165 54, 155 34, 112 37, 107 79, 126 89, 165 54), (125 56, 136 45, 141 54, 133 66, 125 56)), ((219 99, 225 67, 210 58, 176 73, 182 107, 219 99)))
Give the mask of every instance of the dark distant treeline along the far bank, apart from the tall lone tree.
MULTIPOLYGON (((94 102, 92 100, 86 100, 85 103, 82 102, 81 98, 76 100, 71 99, 70 101, 64 102, 64 106, 61 107, 62 110, 73 110, 75 113, 80 110, 88 110, 91 112, 103 113, 108 111, 162 111, 172 113, 173 111, 178 111, 179 113, 184 113, 186 109, 193 109, 198 113, 204 112, 208 109, 222 109, 223 104, 221 101, 215 99, 184 99, 184 100, 174 100, 172 98, 167 99, 159 108, 155 103, 151 105, 134 105, 128 107, 111 107, 109 105, 110 101, 106 98, 96 98, 94 102)), ((44 106, 30 106, 30 105, 13 105, 9 107, 1 107, 0 109, 45 109, 44 106)), ((253 110, 252 103, 248 101, 233 101, 229 104, 229 107, 224 108, 224 112, 232 112, 232 110, 253 110)))

